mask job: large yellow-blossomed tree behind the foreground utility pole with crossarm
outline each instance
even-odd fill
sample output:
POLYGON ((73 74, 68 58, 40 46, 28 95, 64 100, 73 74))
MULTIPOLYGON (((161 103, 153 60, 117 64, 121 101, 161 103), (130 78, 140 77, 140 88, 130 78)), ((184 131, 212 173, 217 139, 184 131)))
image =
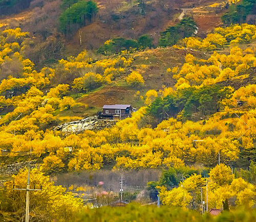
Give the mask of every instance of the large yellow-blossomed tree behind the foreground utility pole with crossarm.
MULTIPOLYGON (((16 176, 12 176, 11 181, 5 183, 6 201, 9 209, 22 212, 26 203, 26 192, 13 190, 16 188, 25 188, 27 185, 28 169, 21 170, 16 176)), ((69 221, 78 213, 83 204, 81 199, 74 198, 66 188, 54 186, 48 176, 44 176, 41 170, 34 168, 30 170, 30 186, 41 191, 30 192, 30 217, 39 220, 58 220, 69 221)))

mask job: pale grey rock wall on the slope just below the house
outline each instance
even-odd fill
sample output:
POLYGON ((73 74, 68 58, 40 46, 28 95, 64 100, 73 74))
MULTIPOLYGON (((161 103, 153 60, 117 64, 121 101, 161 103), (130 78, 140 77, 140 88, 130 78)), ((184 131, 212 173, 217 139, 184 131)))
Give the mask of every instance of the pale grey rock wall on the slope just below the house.
POLYGON ((104 128, 112 127, 116 124, 116 120, 98 119, 97 117, 88 117, 73 122, 65 122, 65 124, 55 127, 53 130, 68 133, 81 133, 84 130, 99 131, 104 128))

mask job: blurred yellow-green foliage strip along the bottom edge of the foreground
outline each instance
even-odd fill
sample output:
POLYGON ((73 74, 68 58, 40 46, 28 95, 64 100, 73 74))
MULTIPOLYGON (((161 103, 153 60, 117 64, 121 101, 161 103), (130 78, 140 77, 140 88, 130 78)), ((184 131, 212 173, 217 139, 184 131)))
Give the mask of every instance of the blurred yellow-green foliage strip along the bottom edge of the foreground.
POLYGON ((224 212, 217 217, 209 214, 200 215, 199 212, 184 210, 182 208, 170 208, 167 206, 140 206, 129 204, 125 207, 101 207, 88 209, 75 218, 74 221, 182 221, 182 222, 213 222, 213 221, 254 221, 255 209, 239 209, 232 212, 224 212))

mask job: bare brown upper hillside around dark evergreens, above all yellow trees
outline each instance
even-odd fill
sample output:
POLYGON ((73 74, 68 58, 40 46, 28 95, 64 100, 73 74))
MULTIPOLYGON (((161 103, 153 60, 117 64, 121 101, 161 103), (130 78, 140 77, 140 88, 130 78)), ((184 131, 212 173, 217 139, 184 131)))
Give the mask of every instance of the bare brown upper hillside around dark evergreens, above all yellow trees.
POLYGON ((11 16, 3 15, 0 23, 30 32, 34 44, 27 54, 37 67, 41 67, 44 64, 52 64, 60 57, 77 55, 84 49, 97 50, 106 40, 114 37, 136 39, 148 34, 157 45, 160 32, 179 21, 183 8, 187 9, 184 15, 194 16, 200 35, 205 35, 217 27, 223 14, 223 10, 216 14, 215 8, 207 7, 216 2, 210 0, 144 2, 142 13, 135 0, 131 3, 116 0, 111 4, 108 4, 108 1, 98 1, 97 16, 91 24, 81 29, 82 45, 79 32, 66 37, 59 32, 60 0, 31 1, 29 9, 11 16), (191 9, 193 7, 195 9, 191 9), (54 54, 49 54, 49 51, 54 51, 54 54))

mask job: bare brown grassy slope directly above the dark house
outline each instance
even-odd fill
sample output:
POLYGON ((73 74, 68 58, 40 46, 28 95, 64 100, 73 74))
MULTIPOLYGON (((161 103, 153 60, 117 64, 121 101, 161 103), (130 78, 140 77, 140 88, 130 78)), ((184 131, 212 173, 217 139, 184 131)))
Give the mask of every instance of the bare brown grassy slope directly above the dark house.
MULTIPOLYGON (((174 48, 156 48, 145 52, 132 54, 134 61, 130 70, 141 73, 145 80, 142 88, 131 88, 125 82, 126 75, 117 79, 109 86, 104 86, 92 91, 77 99, 77 102, 86 104, 88 109, 96 107, 100 109, 104 104, 132 104, 134 107, 141 107, 143 102, 134 96, 137 90, 144 95, 147 90, 159 90, 162 86, 174 87, 175 80, 166 69, 174 66, 181 66, 187 53, 203 58, 204 55, 190 50, 176 50, 174 48)), ((88 110, 86 111, 88 112, 88 110)), ((86 113, 84 113, 86 114, 86 113)))

